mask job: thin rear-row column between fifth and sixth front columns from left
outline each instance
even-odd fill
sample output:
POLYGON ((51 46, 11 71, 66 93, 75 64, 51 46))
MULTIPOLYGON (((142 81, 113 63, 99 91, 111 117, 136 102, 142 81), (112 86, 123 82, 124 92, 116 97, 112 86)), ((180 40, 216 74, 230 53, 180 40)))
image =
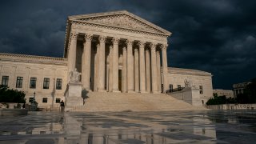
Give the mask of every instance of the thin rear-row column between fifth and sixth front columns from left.
POLYGON ((139 92, 138 48, 134 48, 134 90, 139 92))

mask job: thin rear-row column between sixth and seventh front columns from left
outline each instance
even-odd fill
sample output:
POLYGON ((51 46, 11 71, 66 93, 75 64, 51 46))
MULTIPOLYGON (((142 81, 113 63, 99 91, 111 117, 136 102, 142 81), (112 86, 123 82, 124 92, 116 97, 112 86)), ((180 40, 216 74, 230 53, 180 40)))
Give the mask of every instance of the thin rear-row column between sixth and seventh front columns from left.
POLYGON ((150 76, 150 50, 145 50, 146 55, 146 92, 150 93, 151 91, 151 76, 150 76))

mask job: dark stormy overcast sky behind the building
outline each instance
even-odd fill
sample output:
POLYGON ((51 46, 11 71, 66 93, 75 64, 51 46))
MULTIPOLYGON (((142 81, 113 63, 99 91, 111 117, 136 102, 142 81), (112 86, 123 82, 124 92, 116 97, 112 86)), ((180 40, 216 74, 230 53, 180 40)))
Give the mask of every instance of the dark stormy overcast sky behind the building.
POLYGON ((0 52, 62 57, 67 16, 114 10, 172 32, 168 66, 208 71, 214 88, 256 77, 255 0, 3 0, 0 52))

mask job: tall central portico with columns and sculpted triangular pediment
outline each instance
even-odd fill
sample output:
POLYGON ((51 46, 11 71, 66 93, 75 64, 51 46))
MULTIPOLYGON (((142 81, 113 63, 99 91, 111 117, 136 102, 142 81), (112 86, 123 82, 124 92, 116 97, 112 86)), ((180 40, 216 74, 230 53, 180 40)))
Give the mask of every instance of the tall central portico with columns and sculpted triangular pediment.
POLYGON ((161 93, 167 90, 170 32, 127 11, 68 19, 64 57, 86 90, 161 93))

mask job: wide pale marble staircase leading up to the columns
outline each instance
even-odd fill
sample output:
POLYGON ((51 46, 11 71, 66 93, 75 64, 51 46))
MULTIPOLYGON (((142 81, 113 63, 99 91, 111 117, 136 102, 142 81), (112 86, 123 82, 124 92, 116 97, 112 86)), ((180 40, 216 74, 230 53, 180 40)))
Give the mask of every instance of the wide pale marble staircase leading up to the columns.
POLYGON ((87 94, 84 106, 73 106, 68 111, 170 111, 170 110, 206 110, 203 106, 190 104, 167 94, 103 93, 87 94))

